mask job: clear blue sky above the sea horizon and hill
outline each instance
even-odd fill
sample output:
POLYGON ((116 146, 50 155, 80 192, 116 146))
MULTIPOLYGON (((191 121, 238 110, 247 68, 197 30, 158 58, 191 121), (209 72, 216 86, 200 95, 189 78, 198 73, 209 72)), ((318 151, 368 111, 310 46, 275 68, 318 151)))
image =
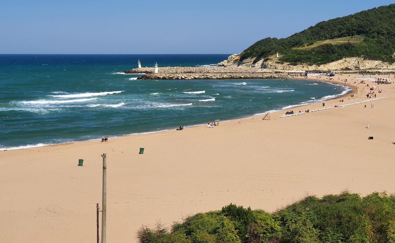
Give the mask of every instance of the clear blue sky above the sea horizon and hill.
POLYGON ((4 0, 0 53, 240 53, 389 0, 4 0))

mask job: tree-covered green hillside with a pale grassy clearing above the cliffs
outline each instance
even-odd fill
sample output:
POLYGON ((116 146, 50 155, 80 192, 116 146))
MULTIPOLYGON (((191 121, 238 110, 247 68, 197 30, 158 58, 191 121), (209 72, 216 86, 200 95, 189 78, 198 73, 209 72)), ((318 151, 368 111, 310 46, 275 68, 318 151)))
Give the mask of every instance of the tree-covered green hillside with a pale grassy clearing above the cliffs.
POLYGON ((326 64, 345 57, 395 62, 395 4, 322 21, 287 38, 265 38, 241 55, 241 60, 281 54, 291 64, 326 64), (340 38, 340 39, 339 39, 340 38))

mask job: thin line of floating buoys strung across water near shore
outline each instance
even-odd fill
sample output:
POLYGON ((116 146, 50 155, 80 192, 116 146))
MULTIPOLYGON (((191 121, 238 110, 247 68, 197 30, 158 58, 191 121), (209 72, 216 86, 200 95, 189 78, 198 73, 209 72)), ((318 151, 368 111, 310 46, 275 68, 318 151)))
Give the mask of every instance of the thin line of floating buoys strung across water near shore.
POLYGON ((92 123, 110 123, 110 122, 123 122, 123 121, 140 121, 148 119, 160 119, 160 118, 171 118, 171 117, 183 117, 188 115, 203 115, 203 114, 214 114, 226 111, 235 111, 249 108, 249 106, 237 108, 237 109, 227 109, 222 111, 211 111, 211 112, 200 112, 200 113, 188 113, 183 115, 173 115, 173 116, 162 116, 162 117, 146 117, 146 118, 136 118, 136 119, 125 119, 125 120, 111 120, 111 121, 96 121, 96 122, 70 122, 70 123, 49 123, 49 124, 24 124, 24 125, 2 125, 2 126, 60 126, 60 125, 79 125, 79 124, 92 124, 92 123))

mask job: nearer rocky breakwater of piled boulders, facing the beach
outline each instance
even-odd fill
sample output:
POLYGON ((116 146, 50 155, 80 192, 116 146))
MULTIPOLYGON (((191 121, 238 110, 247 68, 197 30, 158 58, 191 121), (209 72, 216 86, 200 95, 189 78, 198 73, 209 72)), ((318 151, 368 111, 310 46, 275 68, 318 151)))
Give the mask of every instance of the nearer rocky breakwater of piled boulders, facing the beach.
POLYGON ((284 73, 147 73, 137 79, 285 79, 284 73))

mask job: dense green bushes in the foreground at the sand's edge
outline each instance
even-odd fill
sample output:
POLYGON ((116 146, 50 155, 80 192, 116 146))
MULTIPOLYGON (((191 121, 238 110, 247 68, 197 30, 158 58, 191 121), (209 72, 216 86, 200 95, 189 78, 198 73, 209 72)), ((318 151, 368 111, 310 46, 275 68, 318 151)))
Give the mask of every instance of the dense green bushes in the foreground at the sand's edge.
POLYGON ((395 196, 308 196, 275 213, 229 204, 171 229, 143 226, 141 243, 395 243, 395 196))

